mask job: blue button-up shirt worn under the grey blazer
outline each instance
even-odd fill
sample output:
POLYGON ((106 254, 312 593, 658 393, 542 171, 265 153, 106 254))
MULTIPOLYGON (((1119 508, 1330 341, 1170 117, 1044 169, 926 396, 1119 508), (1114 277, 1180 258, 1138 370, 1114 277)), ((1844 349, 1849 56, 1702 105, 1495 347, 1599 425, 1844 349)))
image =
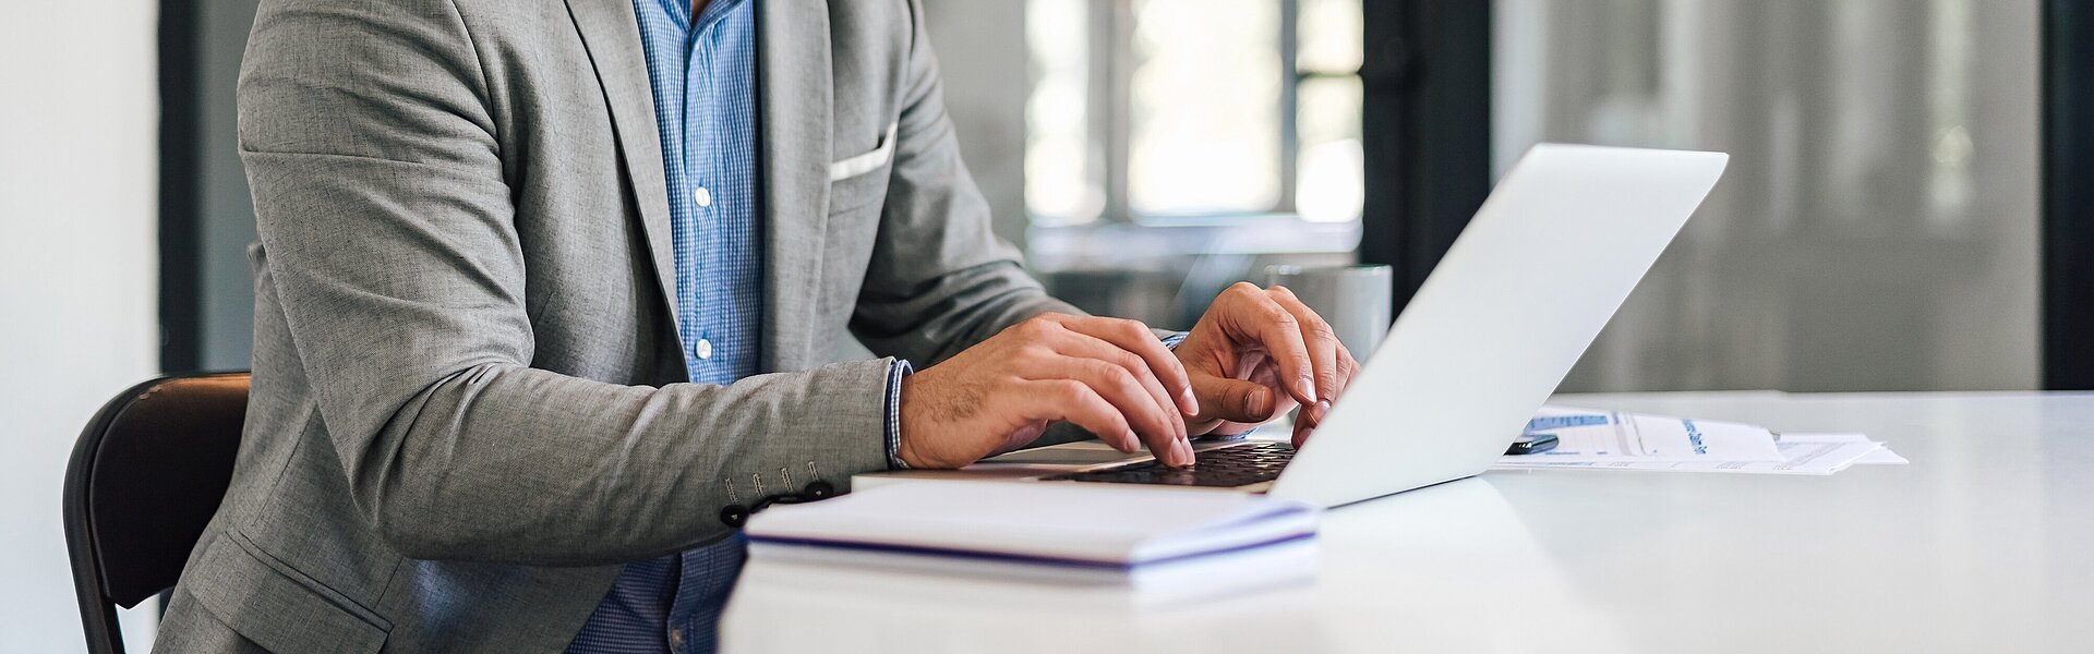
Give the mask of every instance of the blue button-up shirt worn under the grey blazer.
MULTIPOLYGON (((733 384, 758 371, 764 310, 756 0, 712 0, 697 21, 691 0, 632 8, 662 132, 683 361, 691 382, 733 384)), ((628 564, 567 652, 712 652, 741 558, 735 535, 628 564)))

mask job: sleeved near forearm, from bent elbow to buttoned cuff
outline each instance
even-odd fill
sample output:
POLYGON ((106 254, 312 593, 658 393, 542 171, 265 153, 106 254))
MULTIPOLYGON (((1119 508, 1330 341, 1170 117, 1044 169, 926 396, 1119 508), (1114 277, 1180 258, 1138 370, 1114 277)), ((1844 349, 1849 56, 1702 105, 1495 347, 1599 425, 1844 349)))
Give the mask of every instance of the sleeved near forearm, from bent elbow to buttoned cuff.
POLYGON ((888 361, 664 388, 480 365, 333 436, 410 558, 611 564, 725 535, 727 505, 884 470, 886 382, 888 361))

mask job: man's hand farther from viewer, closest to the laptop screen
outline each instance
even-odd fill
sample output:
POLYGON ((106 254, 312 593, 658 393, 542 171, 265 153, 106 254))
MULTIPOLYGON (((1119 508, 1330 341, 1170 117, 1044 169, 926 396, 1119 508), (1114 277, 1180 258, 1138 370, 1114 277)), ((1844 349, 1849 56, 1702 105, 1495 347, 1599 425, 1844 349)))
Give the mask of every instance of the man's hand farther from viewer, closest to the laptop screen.
POLYGON ((1177 346, 1191 375, 1200 411, 1191 434, 1235 434, 1294 407, 1294 446, 1300 446, 1330 402, 1353 382, 1359 361, 1338 335, 1286 287, 1238 283, 1206 308, 1177 346))

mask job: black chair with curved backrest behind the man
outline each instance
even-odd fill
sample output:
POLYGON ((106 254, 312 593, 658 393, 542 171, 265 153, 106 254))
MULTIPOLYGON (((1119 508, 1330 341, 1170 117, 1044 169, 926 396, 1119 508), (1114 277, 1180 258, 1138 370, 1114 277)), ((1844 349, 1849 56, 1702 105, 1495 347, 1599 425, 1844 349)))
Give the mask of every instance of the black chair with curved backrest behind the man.
POLYGON ((232 482, 247 373, 174 375, 94 413, 65 467, 65 547, 88 652, 124 652, 117 606, 174 587, 232 482))

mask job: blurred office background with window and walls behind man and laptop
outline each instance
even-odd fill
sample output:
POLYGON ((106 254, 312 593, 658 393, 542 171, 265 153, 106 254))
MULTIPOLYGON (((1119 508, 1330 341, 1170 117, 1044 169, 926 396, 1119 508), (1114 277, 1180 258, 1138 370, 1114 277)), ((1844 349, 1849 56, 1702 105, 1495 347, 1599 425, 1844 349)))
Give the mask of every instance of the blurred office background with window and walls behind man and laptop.
MULTIPOLYGON (((0 19, 10 650, 80 648, 59 478, 88 415, 247 367, 253 4, 0 19)), ((1269 264, 1351 262, 1401 306, 1533 143, 1717 149, 1564 390, 2094 388, 2094 138, 2044 111, 2094 88, 2069 0, 923 4, 997 231, 1093 312, 1185 327, 1269 264)))

